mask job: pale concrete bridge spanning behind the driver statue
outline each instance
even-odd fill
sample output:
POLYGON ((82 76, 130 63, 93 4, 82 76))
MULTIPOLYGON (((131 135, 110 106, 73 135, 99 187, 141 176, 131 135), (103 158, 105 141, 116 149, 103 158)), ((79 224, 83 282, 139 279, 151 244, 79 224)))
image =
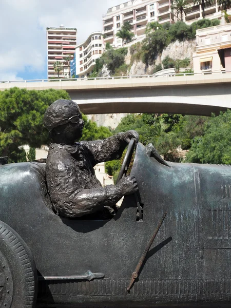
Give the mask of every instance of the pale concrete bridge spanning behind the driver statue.
POLYGON ((210 115, 231 108, 231 73, 125 76, 55 81, 0 81, 0 90, 68 91, 85 114, 183 113, 210 115))

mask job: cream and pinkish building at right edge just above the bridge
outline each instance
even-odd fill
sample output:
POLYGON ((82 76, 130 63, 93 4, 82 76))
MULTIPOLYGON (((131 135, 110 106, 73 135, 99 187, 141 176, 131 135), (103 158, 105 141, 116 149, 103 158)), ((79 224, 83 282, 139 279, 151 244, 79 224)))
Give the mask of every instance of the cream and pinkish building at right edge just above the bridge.
POLYGON ((197 30, 194 72, 231 72, 231 24, 197 30))

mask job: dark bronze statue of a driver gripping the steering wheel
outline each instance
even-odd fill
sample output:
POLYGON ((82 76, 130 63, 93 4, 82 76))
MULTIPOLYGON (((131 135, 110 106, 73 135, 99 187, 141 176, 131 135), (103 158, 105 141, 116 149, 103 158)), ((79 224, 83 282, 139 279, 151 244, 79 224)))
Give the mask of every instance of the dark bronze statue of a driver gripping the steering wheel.
POLYGON ((70 218, 92 214, 114 206, 124 195, 138 189, 131 176, 103 188, 93 169, 100 162, 119 159, 131 138, 138 142, 136 131, 75 143, 82 137, 84 121, 79 106, 69 100, 51 104, 45 112, 44 125, 53 140, 46 174, 54 213, 70 218))

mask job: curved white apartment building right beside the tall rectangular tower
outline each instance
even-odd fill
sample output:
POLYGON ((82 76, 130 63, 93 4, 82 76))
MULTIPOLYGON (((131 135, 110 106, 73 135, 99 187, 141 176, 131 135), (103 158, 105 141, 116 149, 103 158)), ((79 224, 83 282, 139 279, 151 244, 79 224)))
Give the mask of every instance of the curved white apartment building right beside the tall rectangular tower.
POLYGON ((91 33, 87 40, 76 46, 76 76, 87 78, 93 70, 95 60, 104 52, 102 32, 91 33))

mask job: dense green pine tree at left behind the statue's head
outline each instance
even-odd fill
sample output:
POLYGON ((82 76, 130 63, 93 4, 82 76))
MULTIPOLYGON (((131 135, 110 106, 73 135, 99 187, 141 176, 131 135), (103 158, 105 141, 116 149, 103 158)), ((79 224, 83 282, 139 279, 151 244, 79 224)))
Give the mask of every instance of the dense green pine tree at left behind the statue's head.
POLYGON ((22 146, 40 147, 48 143, 48 132, 43 127, 47 107, 58 99, 70 99, 63 90, 26 90, 11 88, 0 92, 0 156, 9 162, 25 157, 22 146))

